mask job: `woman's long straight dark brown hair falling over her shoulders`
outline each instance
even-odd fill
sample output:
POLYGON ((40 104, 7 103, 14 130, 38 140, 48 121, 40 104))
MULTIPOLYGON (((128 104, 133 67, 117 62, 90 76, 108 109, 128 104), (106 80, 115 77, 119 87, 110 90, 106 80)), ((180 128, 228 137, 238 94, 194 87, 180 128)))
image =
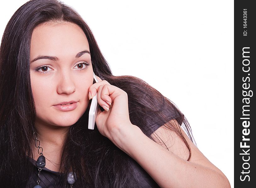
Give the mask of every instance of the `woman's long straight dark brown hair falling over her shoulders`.
MULTIPOLYGON (((32 0, 21 6, 8 22, 0 47, 0 184, 3 187, 30 187, 33 165, 32 135, 36 108, 30 81, 30 42, 39 24, 60 21, 77 24, 86 34, 94 73, 128 94, 131 123, 149 138, 155 124, 164 125, 180 135, 169 121, 183 125, 192 140, 190 126, 173 102, 134 76, 113 76, 92 31, 81 16, 55 0, 32 0)), ((81 181, 79 187, 139 187, 131 173, 129 156, 102 136, 95 126, 88 130, 88 109, 69 128, 61 156, 60 181, 66 187, 70 167, 81 181)), ((154 139, 153 139, 154 140, 154 139)), ((190 159, 189 158, 187 160, 190 159)))

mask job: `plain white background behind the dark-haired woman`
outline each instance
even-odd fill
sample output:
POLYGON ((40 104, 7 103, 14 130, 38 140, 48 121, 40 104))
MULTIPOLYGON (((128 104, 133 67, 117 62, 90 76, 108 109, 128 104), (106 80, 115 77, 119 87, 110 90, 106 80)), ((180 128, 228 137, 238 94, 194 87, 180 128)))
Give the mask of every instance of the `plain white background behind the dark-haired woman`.
MULTIPOLYGON (((1 36, 25 2, 1 2, 1 36)), ((64 3, 90 26, 115 76, 142 78, 179 107, 198 148, 233 187, 234 2, 64 3)))

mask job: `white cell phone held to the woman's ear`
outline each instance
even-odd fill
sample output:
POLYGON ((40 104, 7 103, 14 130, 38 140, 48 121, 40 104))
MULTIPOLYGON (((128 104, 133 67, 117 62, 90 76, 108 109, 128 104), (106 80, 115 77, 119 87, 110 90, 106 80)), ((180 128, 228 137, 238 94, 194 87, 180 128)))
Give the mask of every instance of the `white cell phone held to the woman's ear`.
MULTIPOLYGON (((94 73, 93 73, 93 78, 94 78, 93 83, 98 82, 94 73)), ((88 129, 92 129, 92 130, 94 129, 94 126, 95 126, 96 116, 97 116, 98 107, 99 107, 97 94, 98 93, 96 93, 96 95, 94 97, 92 97, 92 102, 91 102, 91 106, 90 106, 90 110, 89 110, 88 129)))

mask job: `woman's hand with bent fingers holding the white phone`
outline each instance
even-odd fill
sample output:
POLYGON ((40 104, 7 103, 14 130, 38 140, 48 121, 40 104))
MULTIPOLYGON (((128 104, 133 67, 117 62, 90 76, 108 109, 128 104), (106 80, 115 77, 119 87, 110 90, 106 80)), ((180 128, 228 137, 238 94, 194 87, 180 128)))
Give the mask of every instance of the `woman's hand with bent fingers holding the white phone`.
POLYGON ((120 88, 110 85, 109 82, 101 80, 98 76, 96 77, 99 82, 89 87, 89 99, 92 99, 97 93, 98 103, 105 109, 102 112, 98 108, 97 128, 103 136, 112 140, 112 134, 115 130, 132 125, 129 118, 128 96, 120 88))

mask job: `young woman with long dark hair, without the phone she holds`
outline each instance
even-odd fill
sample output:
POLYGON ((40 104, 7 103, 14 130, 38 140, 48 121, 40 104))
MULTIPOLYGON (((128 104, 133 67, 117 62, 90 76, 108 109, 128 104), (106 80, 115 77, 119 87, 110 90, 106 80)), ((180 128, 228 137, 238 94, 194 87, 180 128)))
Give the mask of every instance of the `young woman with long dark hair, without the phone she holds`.
POLYGON ((190 133, 169 99, 139 78, 112 75, 72 8, 32 0, 8 22, 0 47, 1 186, 230 187, 190 133), (101 107, 89 130, 96 94, 101 107))

